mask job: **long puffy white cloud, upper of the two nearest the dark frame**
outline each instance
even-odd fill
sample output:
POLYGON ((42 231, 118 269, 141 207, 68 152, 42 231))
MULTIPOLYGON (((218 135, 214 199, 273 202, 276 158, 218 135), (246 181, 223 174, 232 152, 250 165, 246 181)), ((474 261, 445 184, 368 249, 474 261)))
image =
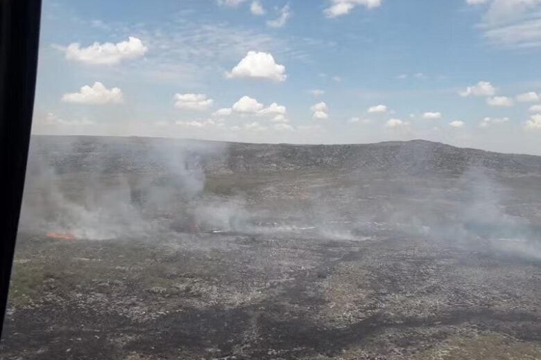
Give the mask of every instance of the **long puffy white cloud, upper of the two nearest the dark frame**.
POLYGON ((135 59, 145 55, 148 48, 137 37, 128 37, 128 41, 112 44, 106 42, 81 48, 79 43, 69 44, 67 47, 55 46, 64 51, 67 60, 74 60, 89 65, 114 65, 122 60, 135 59))

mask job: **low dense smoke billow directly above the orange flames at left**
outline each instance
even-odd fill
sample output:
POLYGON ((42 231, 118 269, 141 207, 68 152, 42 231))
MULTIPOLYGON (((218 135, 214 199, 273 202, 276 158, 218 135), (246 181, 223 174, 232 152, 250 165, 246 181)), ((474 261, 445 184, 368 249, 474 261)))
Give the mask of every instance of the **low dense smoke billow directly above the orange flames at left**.
POLYGON ((123 177, 107 186, 90 177, 79 195, 62 190, 62 178, 51 166, 28 174, 20 228, 33 233, 65 233, 79 239, 107 240, 146 233, 151 224, 130 201, 123 177))

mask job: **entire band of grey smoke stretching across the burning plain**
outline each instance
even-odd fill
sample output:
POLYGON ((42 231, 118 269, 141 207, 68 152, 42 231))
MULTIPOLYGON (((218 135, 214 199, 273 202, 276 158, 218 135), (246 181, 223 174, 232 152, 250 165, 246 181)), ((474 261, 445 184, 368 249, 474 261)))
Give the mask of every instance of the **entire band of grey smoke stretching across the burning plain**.
POLYGON ((541 257, 541 227, 510 210, 520 189, 483 164, 457 162, 449 170, 456 159, 449 157, 440 171, 429 161, 431 148, 419 146, 387 154, 411 159, 389 169, 250 172, 245 186, 235 183, 242 175, 232 170, 239 164, 227 146, 33 138, 21 229, 92 240, 194 231, 346 241, 407 234, 541 257), (223 174, 232 177, 220 182, 223 174))

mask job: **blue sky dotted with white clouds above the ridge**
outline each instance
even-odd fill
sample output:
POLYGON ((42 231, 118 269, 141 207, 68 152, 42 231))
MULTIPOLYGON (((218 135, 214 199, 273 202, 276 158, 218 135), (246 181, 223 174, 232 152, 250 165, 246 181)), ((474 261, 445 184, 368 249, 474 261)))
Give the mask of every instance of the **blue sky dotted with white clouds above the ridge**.
POLYGON ((44 0, 34 134, 541 155, 541 0, 44 0))

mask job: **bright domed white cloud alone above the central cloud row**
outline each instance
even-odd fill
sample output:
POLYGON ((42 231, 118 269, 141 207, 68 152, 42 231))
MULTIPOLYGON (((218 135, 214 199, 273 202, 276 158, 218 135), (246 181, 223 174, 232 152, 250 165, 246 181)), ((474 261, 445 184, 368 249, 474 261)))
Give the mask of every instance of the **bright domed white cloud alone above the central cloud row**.
POLYGON ((276 64, 272 54, 256 51, 248 51, 246 57, 225 75, 227 78, 250 78, 276 82, 285 81, 287 78, 286 67, 276 64))

